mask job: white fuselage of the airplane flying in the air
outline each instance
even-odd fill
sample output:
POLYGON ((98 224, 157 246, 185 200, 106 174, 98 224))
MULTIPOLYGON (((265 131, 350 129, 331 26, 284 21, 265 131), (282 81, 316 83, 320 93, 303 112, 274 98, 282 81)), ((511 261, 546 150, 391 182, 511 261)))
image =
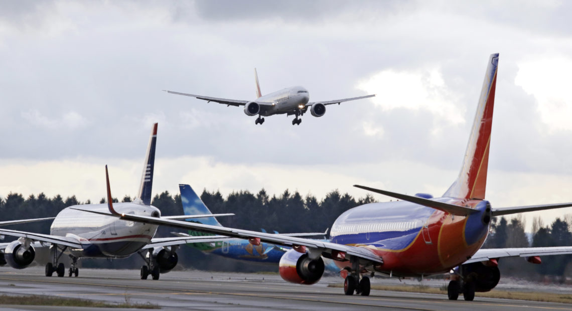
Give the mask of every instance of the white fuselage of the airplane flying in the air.
POLYGON ((287 89, 275 91, 261 96, 255 102, 272 103, 272 109, 268 109, 262 115, 291 113, 295 109, 303 109, 308 103, 310 95, 308 90, 301 86, 292 86, 287 89))

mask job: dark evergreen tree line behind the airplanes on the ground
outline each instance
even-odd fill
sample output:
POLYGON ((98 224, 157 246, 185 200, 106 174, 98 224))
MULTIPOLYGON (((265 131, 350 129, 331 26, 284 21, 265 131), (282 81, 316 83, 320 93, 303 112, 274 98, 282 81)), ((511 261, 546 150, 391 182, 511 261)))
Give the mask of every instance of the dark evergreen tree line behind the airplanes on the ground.
MULTIPOLYGON (((375 202, 368 194, 363 198, 353 198, 349 194, 341 194, 333 190, 322 200, 307 194, 285 190, 280 195, 269 196, 264 189, 254 194, 248 190, 232 192, 224 197, 219 191, 202 191, 201 199, 212 213, 235 213, 235 216, 221 217, 219 222, 224 226, 257 230, 262 229, 280 233, 293 232, 324 232, 337 216, 358 205, 375 202)), ((125 196, 121 202, 129 202, 132 198, 125 196)), ((114 198, 114 202, 119 202, 114 198)), ((91 204, 79 202, 75 196, 63 199, 61 196, 48 198, 40 193, 25 198, 22 194, 10 193, 0 198, 0 214, 2 221, 25 218, 54 217, 67 206, 91 204)), ((100 203, 105 203, 102 198, 100 203)), ((182 205, 180 195, 169 192, 157 194, 152 205, 161 210, 163 216, 181 215, 182 205)), ((6 226, 6 229, 26 230, 36 233, 49 233, 51 221, 6 226)), ((572 215, 566 214, 557 218, 551 224, 543 224, 541 218, 535 217, 532 232, 526 233, 526 218, 523 214, 517 217, 493 218, 490 234, 483 248, 519 248, 541 246, 572 246, 572 215)), ((157 237, 170 237, 172 228, 160 227, 157 237)), ((13 238, 5 237, 3 242, 13 238)), ((178 269, 209 269, 229 272, 276 272, 276 265, 261 265, 231 260, 214 255, 204 254, 189 246, 178 250, 180 265, 178 269)), ((572 255, 543 256, 541 265, 530 264, 523 258, 503 258, 499 261, 502 276, 514 276, 531 280, 565 282, 566 277, 572 277, 572 255)), ((138 269, 143 264, 142 259, 133 255, 117 260, 85 259, 80 265, 89 268, 121 268, 138 269)))

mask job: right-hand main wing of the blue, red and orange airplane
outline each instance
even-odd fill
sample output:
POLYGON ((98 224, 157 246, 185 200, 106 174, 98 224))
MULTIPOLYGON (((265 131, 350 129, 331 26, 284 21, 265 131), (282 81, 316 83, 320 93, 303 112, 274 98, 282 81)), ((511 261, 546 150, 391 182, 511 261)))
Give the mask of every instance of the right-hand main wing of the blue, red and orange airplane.
POLYGON ((479 249, 471 259, 463 262, 470 264, 471 262, 487 261, 503 257, 533 257, 533 256, 549 256, 549 255, 565 255, 572 254, 572 246, 556 246, 549 248, 491 248, 479 249))

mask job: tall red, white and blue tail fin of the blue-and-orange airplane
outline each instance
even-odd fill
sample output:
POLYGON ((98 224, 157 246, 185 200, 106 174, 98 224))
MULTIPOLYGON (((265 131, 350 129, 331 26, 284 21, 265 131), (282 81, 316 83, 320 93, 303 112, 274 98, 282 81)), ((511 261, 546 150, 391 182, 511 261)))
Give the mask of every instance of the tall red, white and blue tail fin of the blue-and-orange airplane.
POLYGON ((491 142, 492 110, 495 103, 496 70, 499 54, 488 58, 479 105, 457 180, 444 197, 484 200, 487 185, 488 150, 491 142))

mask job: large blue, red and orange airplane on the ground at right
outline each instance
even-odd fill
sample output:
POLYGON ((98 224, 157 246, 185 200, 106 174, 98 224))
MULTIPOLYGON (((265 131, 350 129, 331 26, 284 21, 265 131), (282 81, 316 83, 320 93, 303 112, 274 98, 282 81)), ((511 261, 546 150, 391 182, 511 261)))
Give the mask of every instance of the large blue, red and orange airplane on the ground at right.
POLYGON ((488 58, 463 164, 458 178, 443 196, 434 198, 423 193, 408 196, 356 185, 398 201, 370 203, 347 210, 333 223, 329 242, 130 215, 112 209, 104 214, 129 221, 243 238, 252 245, 268 242, 289 246, 292 249, 284 253, 279 264, 280 276, 288 282, 315 284, 324 273, 324 257, 331 258, 344 270, 344 293, 347 295, 369 296, 368 276, 373 274, 423 278, 451 273, 448 298, 457 300, 462 293, 464 300, 471 301, 475 292, 488 292, 498 284, 501 258, 522 257, 532 264, 539 264, 540 256, 572 254, 572 246, 481 249, 492 217, 572 206, 569 202, 492 208, 486 200, 498 59, 498 54, 488 58))

